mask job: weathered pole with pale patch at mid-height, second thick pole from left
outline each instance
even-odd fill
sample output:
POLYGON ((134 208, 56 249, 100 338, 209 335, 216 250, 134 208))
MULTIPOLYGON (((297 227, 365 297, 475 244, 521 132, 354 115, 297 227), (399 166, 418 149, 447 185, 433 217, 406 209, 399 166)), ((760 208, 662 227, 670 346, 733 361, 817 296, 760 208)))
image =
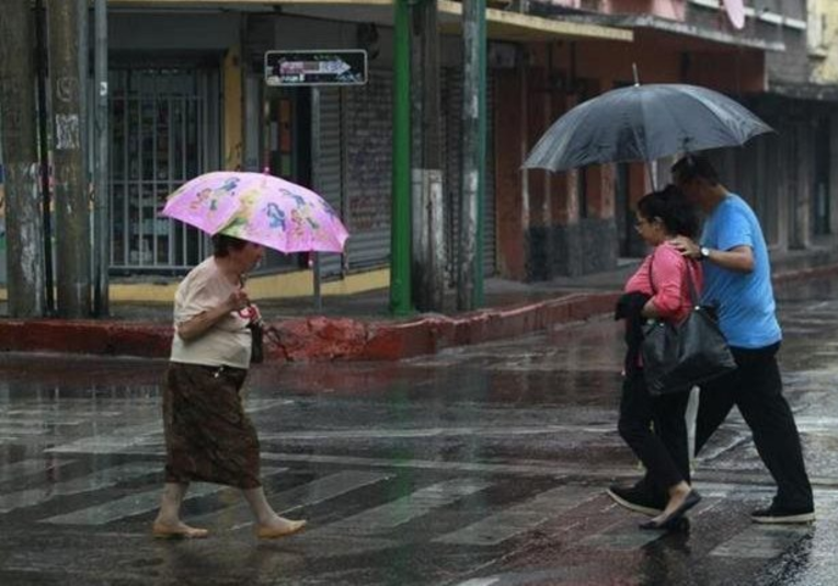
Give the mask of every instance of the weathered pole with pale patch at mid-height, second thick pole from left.
MULTIPOLYGON (((78 2, 49 0, 49 71, 57 241, 58 314, 90 317, 90 199, 85 172, 79 67, 78 2)), ((87 76, 85 76, 87 78, 87 76)))

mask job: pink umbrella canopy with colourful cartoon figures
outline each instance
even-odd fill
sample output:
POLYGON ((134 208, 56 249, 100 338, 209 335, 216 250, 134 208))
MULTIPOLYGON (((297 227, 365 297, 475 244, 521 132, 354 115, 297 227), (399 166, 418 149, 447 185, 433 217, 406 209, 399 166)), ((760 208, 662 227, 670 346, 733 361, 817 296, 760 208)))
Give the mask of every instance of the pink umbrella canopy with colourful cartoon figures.
POLYGON ((219 171, 195 177, 169 196, 162 215, 285 253, 342 252, 348 238, 322 197, 263 173, 219 171))

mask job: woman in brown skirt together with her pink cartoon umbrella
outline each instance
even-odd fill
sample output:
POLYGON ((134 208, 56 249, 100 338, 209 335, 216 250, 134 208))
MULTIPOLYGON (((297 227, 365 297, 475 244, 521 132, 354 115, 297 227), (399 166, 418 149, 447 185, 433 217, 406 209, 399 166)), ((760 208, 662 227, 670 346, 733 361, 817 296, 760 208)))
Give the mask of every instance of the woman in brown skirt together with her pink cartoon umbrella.
POLYGON ((242 491, 260 538, 296 533, 260 481, 259 437, 241 390, 251 363, 251 326, 261 321, 244 276, 264 255, 343 250, 346 229, 315 193, 259 173, 207 173, 169 198, 163 215, 213 234, 215 252, 186 275, 174 300, 174 338, 163 392, 165 486, 152 535, 203 538, 180 518, 191 482, 242 491))

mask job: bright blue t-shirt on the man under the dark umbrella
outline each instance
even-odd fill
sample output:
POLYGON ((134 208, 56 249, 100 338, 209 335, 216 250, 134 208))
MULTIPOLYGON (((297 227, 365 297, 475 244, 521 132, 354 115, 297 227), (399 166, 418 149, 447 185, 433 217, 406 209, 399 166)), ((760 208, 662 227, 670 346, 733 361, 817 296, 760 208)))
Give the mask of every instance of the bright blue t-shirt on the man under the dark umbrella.
POLYGON ((774 313, 771 265, 766 239, 754 210, 742 197, 728 194, 704 221, 701 244, 728 251, 750 246, 754 271, 736 273, 704 263, 704 303, 715 306, 727 343, 739 348, 761 348, 782 340, 774 313))

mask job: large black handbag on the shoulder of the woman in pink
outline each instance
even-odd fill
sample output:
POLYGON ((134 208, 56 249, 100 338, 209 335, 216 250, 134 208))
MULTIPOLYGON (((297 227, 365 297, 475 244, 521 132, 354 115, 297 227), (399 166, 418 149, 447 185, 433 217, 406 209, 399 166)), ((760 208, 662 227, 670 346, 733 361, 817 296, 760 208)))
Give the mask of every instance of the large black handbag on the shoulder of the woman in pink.
MULTIPOLYGON (((648 267, 650 284, 653 262, 654 256, 648 267)), ((696 384, 736 369, 713 308, 700 305, 689 269, 687 283, 692 300, 692 310, 687 319, 678 324, 655 320, 643 332, 640 349, 643 376, 652 395, 687 392, 696 384)), ((654 285, 652 287, 654 290, 654 285)))

